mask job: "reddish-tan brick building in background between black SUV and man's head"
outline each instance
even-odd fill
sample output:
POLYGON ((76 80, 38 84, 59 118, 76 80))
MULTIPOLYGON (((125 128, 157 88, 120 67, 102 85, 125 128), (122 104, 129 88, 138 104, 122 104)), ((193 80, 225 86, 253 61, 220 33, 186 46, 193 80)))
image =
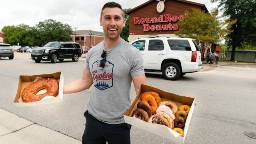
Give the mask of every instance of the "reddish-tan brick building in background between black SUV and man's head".
POLYGON ((77 42, 80 46, 92 47, 102 40, 104 40, 104 33, 92 30, 76 30, 76 33, 73 31, 70 36, 70 42, 77 42))

